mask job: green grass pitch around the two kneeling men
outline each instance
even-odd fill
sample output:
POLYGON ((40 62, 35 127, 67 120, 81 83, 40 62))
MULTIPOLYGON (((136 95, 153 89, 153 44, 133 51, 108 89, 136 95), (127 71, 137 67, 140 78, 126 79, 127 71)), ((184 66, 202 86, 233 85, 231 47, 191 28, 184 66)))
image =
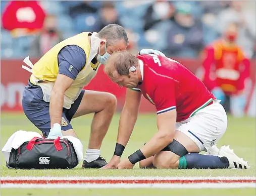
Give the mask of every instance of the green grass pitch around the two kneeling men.
MULTIPOLYGON (((117 113, 101 147, 101 156, 110 160, 116 144, 120 114, 117 113)), ((72 125, 83 143, 84 153, 88 145, 92 115, 72 120, 72 125)), ((18 130, 37 131, 27 118, 21 114, 1 114, 1 149, 8 138, 18 130)), ((124 157, 139 149, 157 132, 156 115, 140 114, 131 139, 124 151, 124 157)), ((39 132, 40 133, 40 132, 39 132)), ((255 176, 255 119, 228 117, 228 129, 218 146, 230 144, 230 148, 244 160, 249 161, 249 170, 207 169, 207 170, 100 170, 81 169, 80 164, 71 170, 10 170, 1 155, 1 176, 255 176)), ((255 195, 255 190, 241 189, 1 189, 1 195, 255 195)))

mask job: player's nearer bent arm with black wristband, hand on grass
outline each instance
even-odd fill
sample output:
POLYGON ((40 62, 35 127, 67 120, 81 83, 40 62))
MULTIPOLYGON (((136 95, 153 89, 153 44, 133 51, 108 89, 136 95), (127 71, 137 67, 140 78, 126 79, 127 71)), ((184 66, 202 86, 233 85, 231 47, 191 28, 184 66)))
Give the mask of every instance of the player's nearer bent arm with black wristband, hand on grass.
POLYGON ((176 110, 171 110, 157 117, 158 133, 153 136, 141 149, 121 161, 118 169, 132 169, 134 164, 160 152, 173 141, 176 124, 176 110))

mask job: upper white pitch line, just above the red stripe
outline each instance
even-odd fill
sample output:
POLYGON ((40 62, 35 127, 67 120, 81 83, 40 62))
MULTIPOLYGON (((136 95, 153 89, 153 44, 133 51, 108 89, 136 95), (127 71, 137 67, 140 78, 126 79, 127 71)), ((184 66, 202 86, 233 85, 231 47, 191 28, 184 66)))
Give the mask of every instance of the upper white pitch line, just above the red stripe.
POLYGON ((1 181, 5 180, 256 180, 255 176, 219 176, 219 177, 160 177, 160 176, 106 176, 106 177, 84 177, 84 176, 18 176, 18 177, 1 177, 1 181))

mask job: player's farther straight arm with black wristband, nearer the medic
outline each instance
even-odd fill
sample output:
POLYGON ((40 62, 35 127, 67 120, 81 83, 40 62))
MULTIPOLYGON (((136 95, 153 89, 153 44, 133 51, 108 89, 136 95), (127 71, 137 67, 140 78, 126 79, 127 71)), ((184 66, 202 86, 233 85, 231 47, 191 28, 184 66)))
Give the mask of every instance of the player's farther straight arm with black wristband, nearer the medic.
POLYGON ((121 155, 130 139, 134 125, 137 121, 140 101, 141 92, 128 88, 126 91, 125 105, 119 122, 115 153, 109 164, 104 166, 103 169, 117 168, 117 165, 120 163, 121 155))

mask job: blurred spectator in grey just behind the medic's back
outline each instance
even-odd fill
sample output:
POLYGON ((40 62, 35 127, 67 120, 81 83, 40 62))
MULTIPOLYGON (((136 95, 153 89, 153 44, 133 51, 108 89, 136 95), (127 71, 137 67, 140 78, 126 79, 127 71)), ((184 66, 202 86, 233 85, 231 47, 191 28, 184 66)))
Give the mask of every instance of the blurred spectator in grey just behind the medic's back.
POLYGON ((48 15, 43 23, 43 28, 33 40, 30 48, 31 57, 40 57, 59 42, 63 41, 63 35, 57 29, 57 18, 48 15))

